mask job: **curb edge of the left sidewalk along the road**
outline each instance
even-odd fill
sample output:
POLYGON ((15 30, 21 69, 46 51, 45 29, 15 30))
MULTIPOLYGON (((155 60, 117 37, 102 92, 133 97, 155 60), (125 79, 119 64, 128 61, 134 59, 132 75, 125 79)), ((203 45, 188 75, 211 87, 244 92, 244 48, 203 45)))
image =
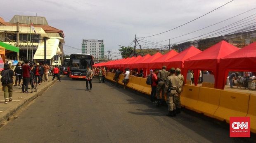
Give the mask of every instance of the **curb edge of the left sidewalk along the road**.
MULTIPOLYGON (((62 78, 63 76, 60 76, 62 78)), ((2 124, 4 124, 5 121, 9 121, 10 116, 14 115, 19 109, 21 109, 23 106, 27 105, 34 99, 36 99, 39 95, 41 95, 47 88, 49 88, 51 85, 53 85, 57 80, 53 81, 49 85, 46 85, 44 88, 40 88, 37 90, 36 94, 33 94, 31 96, 27 96, 22 101, 18 102, 17 104, 11 106, 9 109, 7 109, 4 113, 4 115, 0 115, 0 127, 2 124)))

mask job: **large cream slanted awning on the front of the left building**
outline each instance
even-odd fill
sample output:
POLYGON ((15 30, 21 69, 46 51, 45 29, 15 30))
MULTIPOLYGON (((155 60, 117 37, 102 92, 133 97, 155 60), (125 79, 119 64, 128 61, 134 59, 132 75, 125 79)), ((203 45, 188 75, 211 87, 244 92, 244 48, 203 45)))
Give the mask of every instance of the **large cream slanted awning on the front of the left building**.
MULTIPOLYGON (((46 40, 46 59, 50 60, 57 54, 57 50, 59 47, 59 39, 47 39, 46 40)), ((34 55, 34 59, 44 59, 45 52, 45 44, 44 42, 40 43, 38 46, 36 53, 34 55)))

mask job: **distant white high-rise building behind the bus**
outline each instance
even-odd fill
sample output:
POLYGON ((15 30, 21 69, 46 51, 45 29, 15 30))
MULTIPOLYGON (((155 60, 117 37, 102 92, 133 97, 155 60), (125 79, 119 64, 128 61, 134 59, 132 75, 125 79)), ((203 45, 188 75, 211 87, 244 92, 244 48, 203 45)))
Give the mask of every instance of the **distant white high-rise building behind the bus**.
POLYGON ((92 55, 94 58, 104 59, 104 43, 103 40, 83 39, 82 53, 92 55))

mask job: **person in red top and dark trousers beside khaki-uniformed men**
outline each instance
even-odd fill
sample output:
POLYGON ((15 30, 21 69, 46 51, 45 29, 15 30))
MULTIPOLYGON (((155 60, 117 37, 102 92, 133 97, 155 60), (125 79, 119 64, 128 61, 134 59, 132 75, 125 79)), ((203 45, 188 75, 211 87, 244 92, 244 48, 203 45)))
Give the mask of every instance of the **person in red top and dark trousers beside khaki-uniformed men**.
POLYGON ((157 101, 156 101, 156 86, 157 86, 157 76, 156 76, 156 74, 157 74, 158 70, 155 69, 154 72, 153 72, 153 70, 151 69, 149 72, 150 72, 149 76, 152 77, 151 94, 150 94, 151 101, 153 103, 157 103, 157 101))

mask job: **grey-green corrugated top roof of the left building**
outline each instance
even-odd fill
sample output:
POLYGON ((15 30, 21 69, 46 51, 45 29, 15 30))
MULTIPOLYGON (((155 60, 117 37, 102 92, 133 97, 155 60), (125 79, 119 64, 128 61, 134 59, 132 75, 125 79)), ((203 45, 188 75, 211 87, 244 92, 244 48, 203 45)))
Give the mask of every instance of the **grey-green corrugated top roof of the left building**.
POLYGON ((17 23, 19 21, 20 24, 27 24, 30 23, 29 20, 31 20, 34 24, 38 25, 48 25, 48 22, 45 17, 40 16, 20 16, 15 15, 12 17, 11 21, 9 23, 17 23))

